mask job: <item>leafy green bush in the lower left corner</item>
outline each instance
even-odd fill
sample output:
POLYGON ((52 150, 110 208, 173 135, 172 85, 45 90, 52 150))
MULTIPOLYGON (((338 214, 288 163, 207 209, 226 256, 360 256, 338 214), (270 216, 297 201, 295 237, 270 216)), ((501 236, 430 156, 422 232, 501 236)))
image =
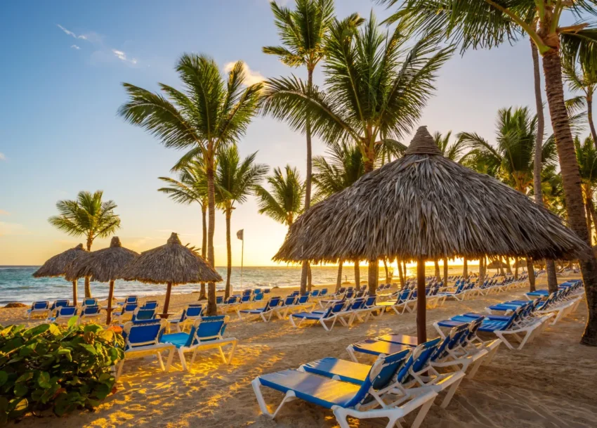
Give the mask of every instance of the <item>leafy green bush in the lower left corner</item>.
POLYGON ((99 405, 116 380, 124 340, 100 325, 0 327, 0 425, 28 412, 60 416, 99 405))

